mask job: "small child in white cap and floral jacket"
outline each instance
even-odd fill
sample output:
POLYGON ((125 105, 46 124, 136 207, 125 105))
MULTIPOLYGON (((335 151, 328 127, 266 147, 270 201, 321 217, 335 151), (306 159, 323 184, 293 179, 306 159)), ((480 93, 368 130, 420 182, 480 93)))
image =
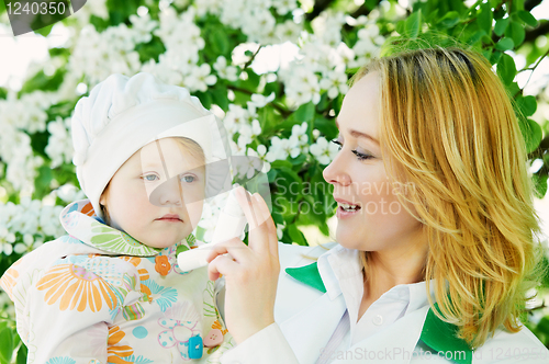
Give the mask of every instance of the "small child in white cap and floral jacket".
POLYGON ((203 201, 231 187, 223 125, 184 88, 112 75, 77 103, 72 141, 88 200, 0 281, 29 362, 219 362, 233 342, 216 287, 177 252, 200 243, 203 201))

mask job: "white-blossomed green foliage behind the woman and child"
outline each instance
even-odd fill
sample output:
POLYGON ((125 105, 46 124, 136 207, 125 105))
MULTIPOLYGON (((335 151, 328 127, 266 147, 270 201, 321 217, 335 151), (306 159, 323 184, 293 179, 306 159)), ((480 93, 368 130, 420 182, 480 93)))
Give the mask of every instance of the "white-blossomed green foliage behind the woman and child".
MULTIPOLYGON (((322 170, 334 158, 347 80, 390 35, 451 35, 490 59, 516 104, 539 197, 549 173, 549 79, 518 86, 548 55, 540 0, 92 0, 56 24, 69 32, 33 65, 20 90, 0 88, 0 274, 63 234, 58 215, 83 197, 71 164, 70 115, 113 72, 149 71, 184 86, 233 135, 235 155, 266 162, 279 239, 307 244, 303 228, 329 235, 335 213, 322 170), (255 61, 267 56, 267 67, 255 61), (276 61, 279 58, 281 61, 276 61), (517 68, 516 59, 523 64, 517 68), (539 109, 539 110, 538 110, 539 109), (289 191, 292 193, 289 194, 289 191)), ((0 25, 8 16, 0 2, 0 25)), ((47 36, 52 26, 36 33, 47 36)), ((265 59, 265 58, 264 58, 265 59)), ((264 61, 265 64, 265 61, 264 61)), ((535 75, 535 73, 534 73, 535 75)), ((219 209, 204 211, 209 240, 219 209)), ((546 262, 547 264, 547 262, 546 262)), ((549 292, 549 276, 538 296, 549 292)), ((524 321, 549 346, 549 310, 538 299, 524 321)), ((13 307, 0 293, 0 363, 24 363, 13 307)))

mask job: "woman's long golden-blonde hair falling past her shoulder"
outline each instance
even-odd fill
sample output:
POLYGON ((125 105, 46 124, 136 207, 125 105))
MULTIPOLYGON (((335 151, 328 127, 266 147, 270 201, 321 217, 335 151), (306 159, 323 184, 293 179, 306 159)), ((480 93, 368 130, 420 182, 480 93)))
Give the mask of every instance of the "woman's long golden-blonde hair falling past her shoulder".
MULTIPOLYGON (((458 47, 374 59, 351 81, 373 71, 382 156, 394 170, 383 163, 390 180, 415 186, 396 195, 424 224, 427 293, 435 278, 441 315, 434 311, 474 349, 502 325, 519 331, 541 231, 525 140, 503 83, 482 55, 458 47)), ((368 252, 362 264, 367 272, 368 252)))

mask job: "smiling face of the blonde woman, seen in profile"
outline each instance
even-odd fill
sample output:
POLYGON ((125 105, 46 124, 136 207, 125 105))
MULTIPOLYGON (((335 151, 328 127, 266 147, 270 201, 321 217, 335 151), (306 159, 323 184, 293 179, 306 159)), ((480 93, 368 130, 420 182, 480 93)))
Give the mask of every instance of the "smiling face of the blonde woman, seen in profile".
POLYGON ((385 174, 378 141, 379 92, 377 72, 367 73, 349 90, 336 122, 340 151, 323 174, 326 182, 334 185, 334 198, 338 203, 338 243, 363 251, 396 249, 405 253, 412 247, 424 244, 422 224, 393 194, 393 189, 413 186, 390 183, 385 174), (346 212, 345 204, 360 208, 346 212))

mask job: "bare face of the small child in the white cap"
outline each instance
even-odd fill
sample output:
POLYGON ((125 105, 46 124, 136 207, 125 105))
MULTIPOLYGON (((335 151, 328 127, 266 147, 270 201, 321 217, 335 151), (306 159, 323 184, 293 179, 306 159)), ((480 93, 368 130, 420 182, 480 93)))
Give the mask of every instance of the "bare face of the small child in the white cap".
POLYGON ((200 220, 204 182, 204 161, 176 138, 164 138, 122 164, 100 204, 112 227, 146 246, 166 248, 184 239, 200 220))

